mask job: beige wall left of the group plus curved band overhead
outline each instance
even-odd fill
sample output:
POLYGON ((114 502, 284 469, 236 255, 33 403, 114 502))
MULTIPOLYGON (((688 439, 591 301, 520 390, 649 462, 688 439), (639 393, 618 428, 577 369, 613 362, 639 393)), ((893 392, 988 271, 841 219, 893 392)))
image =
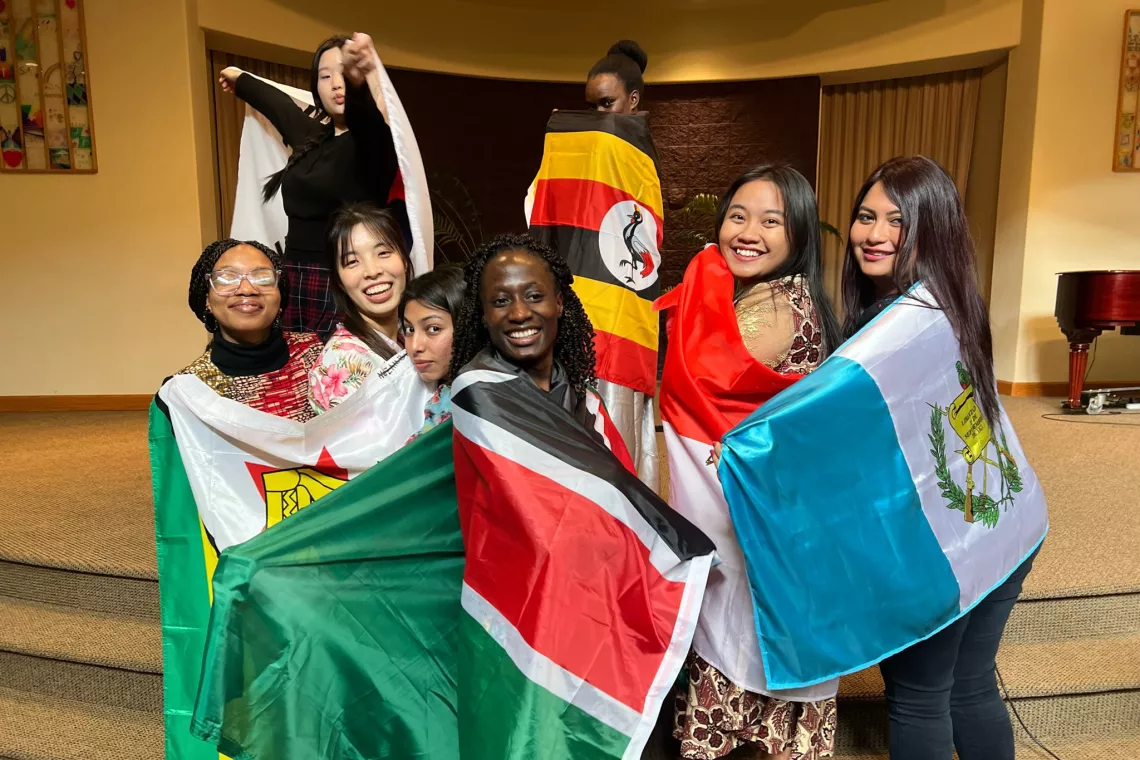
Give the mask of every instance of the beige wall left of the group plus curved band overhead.
POLYGON ((969 56, 1016 44, 1020 13, 1021 0, 630 0, 627 26, 603 0, 88 0, 99 172, 0 175, 17 220, 0 238, 0 351, 26 357, 52 336, 0 373, 0 395, 149 393, 202 350, 186 280, 217 235, 206 34, 303 63, 324 36, 365 30, 392 65, 573 81, 627 35, 651 52, 652 81, 684 81, 969 56))

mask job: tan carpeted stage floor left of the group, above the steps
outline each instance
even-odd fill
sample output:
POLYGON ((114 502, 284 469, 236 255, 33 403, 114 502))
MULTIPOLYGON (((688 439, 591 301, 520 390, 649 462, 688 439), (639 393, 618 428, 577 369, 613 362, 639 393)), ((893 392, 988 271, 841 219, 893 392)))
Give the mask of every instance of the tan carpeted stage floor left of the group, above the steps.
POLYGON ((156 578, 145 412, 0 414, 0 558, 156 578))

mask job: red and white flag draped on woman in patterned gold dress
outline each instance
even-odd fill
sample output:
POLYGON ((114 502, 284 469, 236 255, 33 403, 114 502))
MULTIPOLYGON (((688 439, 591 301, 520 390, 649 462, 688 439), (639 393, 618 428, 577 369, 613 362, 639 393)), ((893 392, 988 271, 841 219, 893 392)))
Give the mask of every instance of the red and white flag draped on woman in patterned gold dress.
MULTIPOLYGON (((709 460, 712 444, 800 375, 781 375, 752 358, 736 326, 733 277, 716 246, 690 262, 679 286, 658 300, 668 310, 669 343, 661 375, 661 422, 669 456, 669 504, 717 547, 693 649, 731 681, 771 694, 752 614, 746 557, 709 460)), ((815 701, 836 683, 783 692, 815 701)))

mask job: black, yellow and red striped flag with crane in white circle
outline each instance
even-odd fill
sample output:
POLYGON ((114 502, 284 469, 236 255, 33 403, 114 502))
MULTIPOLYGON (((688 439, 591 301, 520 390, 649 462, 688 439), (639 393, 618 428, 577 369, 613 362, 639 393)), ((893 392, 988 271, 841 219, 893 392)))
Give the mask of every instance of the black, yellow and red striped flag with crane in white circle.
POLYGON ((652 395, 663 226, 645 117, 556 112, 526 210, 531 235, 573 270, 594 325, 597 377, 652 395))

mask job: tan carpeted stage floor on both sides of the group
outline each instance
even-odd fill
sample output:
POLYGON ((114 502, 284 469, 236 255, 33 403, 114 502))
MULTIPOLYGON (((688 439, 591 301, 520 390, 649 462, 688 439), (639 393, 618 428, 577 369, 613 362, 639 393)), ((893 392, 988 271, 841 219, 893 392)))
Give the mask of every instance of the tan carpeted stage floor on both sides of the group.
MULTIPOLYGON (((1056 399, 1004 403, 1052 522, 1025 597, 1140 589, 1140 415, 1047 419, 1056 399)), ((0 461, 0 557, 155 575, 145 414, 3 414, 0 461)))

